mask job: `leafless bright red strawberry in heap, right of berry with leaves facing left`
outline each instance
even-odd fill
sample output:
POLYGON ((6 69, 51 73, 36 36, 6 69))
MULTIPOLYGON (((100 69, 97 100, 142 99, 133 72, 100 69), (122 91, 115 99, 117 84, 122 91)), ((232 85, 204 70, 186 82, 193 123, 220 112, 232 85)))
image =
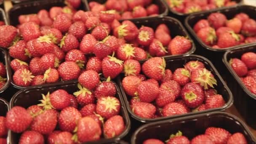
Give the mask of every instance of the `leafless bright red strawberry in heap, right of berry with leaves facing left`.
POLYGON ((94 45, 96 45, 97 40, 91 34, 87 34, 83 37, 80 43, 80 51, 85 54, 93 53, 94 45))

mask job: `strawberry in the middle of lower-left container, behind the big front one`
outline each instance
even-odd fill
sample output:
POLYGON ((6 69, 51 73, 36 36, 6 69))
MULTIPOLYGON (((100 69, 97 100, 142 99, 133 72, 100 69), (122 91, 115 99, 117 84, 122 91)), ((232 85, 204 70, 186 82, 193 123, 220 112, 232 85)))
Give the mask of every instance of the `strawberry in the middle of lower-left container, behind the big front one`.
POLYGON ((66 107, 59 114, 59 127, 62 131, 73 132, 77 121, 82 117, 81 113, 74 107, 66 107))

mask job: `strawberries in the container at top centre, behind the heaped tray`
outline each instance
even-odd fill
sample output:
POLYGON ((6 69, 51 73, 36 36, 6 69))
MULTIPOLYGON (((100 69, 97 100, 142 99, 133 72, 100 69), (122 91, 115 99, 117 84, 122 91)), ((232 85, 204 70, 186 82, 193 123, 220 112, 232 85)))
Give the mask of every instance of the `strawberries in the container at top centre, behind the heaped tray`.
POLYGON ((152 0, 106 0, 104 4, 91 1, 89 8, 92 12, 114 10, 115 19, 133 19, 145 16, 157 16, 159 6, 152 0))

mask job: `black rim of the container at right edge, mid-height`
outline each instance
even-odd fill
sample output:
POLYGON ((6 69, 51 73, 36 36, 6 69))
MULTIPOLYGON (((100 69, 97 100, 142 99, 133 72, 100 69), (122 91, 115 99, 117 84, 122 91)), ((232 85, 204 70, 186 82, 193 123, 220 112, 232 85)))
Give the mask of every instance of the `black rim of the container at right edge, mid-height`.
POLYGON ((227 67, 227 69, 229 70, 229 72, 232 74, 232 76, 235 78, 237 83, 239 83, 239 85, 243 88, 243 91, 245 91, 245 93, 247 93, 251 98, 256 100, 256 94, 251 93, 251 91, 249 91, 248 88, 246 88, 246 86, 240 80, 240 77, 238 77, 238 75, 235 73, 235 71, 232 69, 232 67, 229 64, 227 56, 234 51, 236 51, 236 50, 227 51, 226 53, 224 53, 222 61, 225 64, 225 66, 227 67))

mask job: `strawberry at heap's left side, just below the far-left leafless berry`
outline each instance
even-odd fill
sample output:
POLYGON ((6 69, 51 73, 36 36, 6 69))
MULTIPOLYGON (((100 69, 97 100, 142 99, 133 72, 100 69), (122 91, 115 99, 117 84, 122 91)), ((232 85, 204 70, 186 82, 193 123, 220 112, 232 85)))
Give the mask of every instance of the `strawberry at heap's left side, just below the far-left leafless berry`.
POLYGON ((11 46, 9 49, 9 54, 14 59, 20 59, 21 61, 27 61, 29 57, 26 55, 26 41, 20 40, 15 45, 11 46))

